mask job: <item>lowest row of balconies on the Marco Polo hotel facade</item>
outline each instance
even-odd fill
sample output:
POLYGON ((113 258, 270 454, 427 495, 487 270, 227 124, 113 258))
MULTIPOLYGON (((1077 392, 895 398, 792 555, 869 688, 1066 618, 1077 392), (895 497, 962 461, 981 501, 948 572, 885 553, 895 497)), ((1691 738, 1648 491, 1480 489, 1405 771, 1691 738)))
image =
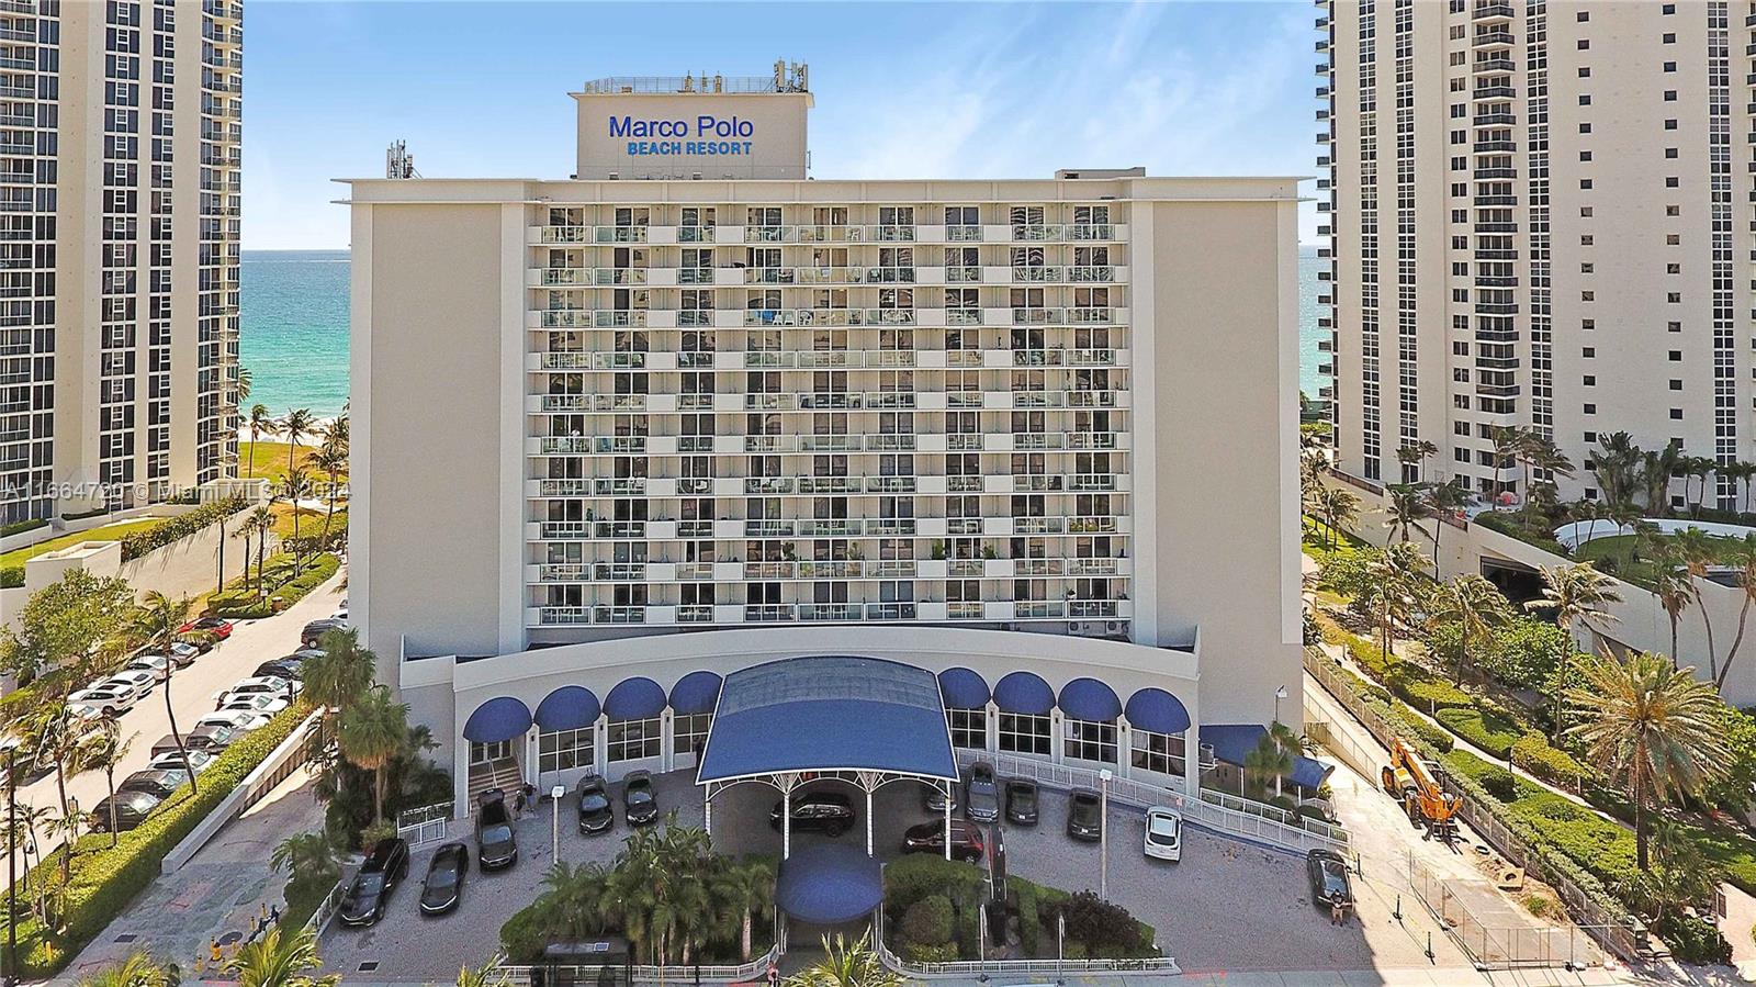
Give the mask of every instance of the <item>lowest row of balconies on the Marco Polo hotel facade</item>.
POLYGON ((1013 622, 1013 620, 1129 620, 1133 601, 954 601, 954 602, 801 602, 801 604, 683 604, 683 606, 541 606, 525 611, 530 627, 550 625, 673 625, 673 623, 790 623, 790 622, 1013 622))

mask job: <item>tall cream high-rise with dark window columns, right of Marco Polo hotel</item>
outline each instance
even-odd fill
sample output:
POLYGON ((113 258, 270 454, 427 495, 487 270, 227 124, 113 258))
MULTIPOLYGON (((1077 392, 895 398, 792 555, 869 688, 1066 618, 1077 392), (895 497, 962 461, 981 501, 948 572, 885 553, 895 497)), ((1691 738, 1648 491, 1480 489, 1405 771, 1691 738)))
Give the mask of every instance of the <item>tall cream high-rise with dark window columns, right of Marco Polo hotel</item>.
POLYGON ((1493 495, 1496 427, 1552 436, 1565 499, 1612 432, 1756 458, 1756 5, 1317 7, 1338 467, 1493 495))

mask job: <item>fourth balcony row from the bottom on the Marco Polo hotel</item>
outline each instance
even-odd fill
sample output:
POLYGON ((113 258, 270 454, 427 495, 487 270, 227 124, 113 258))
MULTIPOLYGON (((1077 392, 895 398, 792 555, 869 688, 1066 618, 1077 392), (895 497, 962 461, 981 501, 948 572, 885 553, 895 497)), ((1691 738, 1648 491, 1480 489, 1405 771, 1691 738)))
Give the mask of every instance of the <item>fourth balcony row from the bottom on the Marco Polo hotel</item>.
POLYGON ((882 494, 1061 494, 1129 492, 1133 478, 1115 472, 992 472, 927 476, 578 476, 527 479, 532 499, 581 497, 745 497, 882 494))

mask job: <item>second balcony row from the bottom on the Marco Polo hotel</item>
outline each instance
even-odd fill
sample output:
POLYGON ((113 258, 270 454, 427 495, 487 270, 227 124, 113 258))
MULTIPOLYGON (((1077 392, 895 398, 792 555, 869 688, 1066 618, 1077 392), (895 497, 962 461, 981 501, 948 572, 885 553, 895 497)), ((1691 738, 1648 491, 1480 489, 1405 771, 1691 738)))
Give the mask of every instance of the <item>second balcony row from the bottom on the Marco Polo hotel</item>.
POLYGON ((771 580, 1018 580, 1129 576, 1133 558, 831 558, 804 562, 546 562, 527 583, 746 583, 771 580))

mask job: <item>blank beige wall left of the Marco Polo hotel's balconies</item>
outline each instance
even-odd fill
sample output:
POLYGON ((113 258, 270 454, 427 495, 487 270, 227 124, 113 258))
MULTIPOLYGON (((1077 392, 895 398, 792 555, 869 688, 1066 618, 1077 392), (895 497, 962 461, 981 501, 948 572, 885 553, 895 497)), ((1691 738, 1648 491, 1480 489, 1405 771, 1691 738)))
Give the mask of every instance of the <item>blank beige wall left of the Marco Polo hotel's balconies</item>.
POLYGON ((369 251, 371 307, 355 311, 355 346, 371 353, 353 381, 355 395, 371 392, 371 414, 355 407, 371 450, 355 448, 367 471, 355 499, 367 502, 376 548, 353 576, 369 599, 367 643, 386 657, 402 653, 404 634, 413 653, 493 653, 500 207, 378 205, 369 251))

